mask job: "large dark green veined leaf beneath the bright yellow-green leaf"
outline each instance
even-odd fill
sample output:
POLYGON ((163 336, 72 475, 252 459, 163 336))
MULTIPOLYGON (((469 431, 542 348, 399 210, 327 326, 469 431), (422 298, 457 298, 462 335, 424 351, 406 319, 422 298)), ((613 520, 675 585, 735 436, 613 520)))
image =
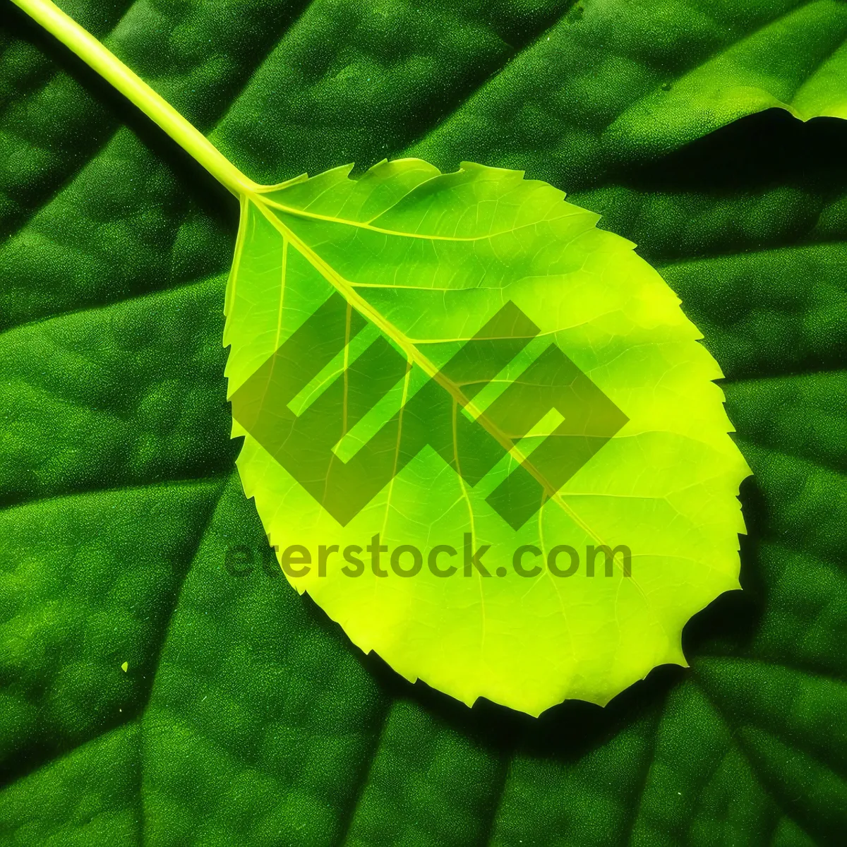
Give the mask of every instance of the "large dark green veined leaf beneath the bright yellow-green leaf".
MULTIPOLYGON (((537 721, 406 684, 263 567, 220 346, 235 202, 3 6, 0 842, 842 843, 847 126, 601 132, 736 30, 828 14, 802 31, 838 56, 844 3, 737 5, 63 4, 253 178, 525 168, 683 298, 756 473, 745 592, 689 624, 689 670, 537 721)), ((799 53, 798 85, 826 60, 799 53)))

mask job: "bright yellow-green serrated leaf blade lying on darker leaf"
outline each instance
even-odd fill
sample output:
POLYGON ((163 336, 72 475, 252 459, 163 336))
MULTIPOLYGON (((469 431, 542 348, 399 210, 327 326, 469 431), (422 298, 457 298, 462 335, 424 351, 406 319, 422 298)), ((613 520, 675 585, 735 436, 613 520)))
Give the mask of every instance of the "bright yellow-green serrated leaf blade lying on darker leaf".
POLYGON ((533 715, 567 698, 605 704, 658 664, 684 665, 684 624, 739 587, 736 495, 748 470, 711 381, 722 374, 677 296, 630 241, 596 229, 597 215, 519 172, 463 163, 441 174, 401 159, 349 173, 244 197, 227 294, 233 435, 246 436, 238 468, 291 583, 363 650, 468 704, 484 696, 533 715), (333 346, 327 324, 312 322, 336 302, 333 346), (480 331, 503 342, 490 327, 504 304, 537 335, 480 390, 481 377, 462 381, 448 363, 480 331), (593 383, 594 400, 580 396, 598 404, 589 418, 601 407, 617 418, 540 510, 512 521, 495 501, 515 463, 542 468, 548 435, 555 442, 567 418, 577 435, 590 424, 579 404, 564 424, 536 415, 469 480, 477 454, 463 452, 474 433, 462 416, 493 434, 498 390, 532 381, 524 374, 554 350, 593 383), (440 395, 428 393, 434 377, 440 395), (433 433, 448 395, 441 449, 433 433), (416 425, 424 449, 407 446, 416 425), (359 451, 360 477, 336 503, 359 451), (334 552, 319 564, 322 545, 334 552), (381 562, 368 545, 385 547, 381 562), (439 545, 443 562, 430 567, 439 545), (567 552, 565 577, 551 558, 563 545, 578 556, 567 552), (601 555, 591 577, 601 545, 623 545, 631 562, 610 573, 601 555))

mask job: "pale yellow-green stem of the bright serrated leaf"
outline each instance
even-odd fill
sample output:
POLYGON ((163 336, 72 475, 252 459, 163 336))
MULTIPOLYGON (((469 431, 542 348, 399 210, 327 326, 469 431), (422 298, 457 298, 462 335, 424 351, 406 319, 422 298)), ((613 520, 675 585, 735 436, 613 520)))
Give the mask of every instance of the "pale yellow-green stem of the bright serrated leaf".
POLYGON ((51 0, 12 0, 26 14, 69 47, 91 69, 111 83, 130 102, 136 104, 154 123, 207 169, 236 197, 256 191, 258 186, 224 156, 217 147, 191 125, 176 109, 140 76, 133 73, 120 59, 84 30, 73 18, 51 0))

